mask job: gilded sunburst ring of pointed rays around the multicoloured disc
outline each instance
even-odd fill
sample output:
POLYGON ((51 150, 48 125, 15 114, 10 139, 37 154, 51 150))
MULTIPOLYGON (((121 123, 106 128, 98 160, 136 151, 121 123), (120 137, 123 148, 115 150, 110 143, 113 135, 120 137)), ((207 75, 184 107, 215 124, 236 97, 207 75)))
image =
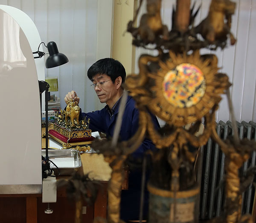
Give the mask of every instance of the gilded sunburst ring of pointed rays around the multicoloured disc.
POLYGON ((166 62, 159 61, 156 73, 148 73, 155 80, 150 88, 155 97, 147 106, 167 123, 184 126, 200 120, 221 99, 215 83, 218 67, 203 60, 199 51, 191 55, 170 51, 169 56, 166 62))

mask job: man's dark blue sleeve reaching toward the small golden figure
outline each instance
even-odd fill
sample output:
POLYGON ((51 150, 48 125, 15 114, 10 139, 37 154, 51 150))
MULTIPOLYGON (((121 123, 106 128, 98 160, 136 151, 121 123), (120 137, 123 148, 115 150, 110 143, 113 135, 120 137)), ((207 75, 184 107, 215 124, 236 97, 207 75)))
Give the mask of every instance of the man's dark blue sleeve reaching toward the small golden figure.
POLYGON ((90 118, 89 129, 91 129, 92 132, 106 132, 106 125, 103 119, 104 115, 102 114, 102 110, 88 113, 80 112, 79 120, 82 120, 85 117, 87 120, 90 118))

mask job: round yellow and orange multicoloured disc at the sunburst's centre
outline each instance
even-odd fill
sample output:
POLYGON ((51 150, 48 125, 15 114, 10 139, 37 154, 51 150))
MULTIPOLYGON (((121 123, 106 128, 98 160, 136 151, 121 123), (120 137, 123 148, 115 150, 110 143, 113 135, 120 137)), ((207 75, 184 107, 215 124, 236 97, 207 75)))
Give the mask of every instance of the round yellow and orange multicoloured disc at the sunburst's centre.
POLYGON ((163 95, 177 108, 189 108, 204 96, 206 81, 197 66, 181 63, 166 73, 163 79, 163 95))

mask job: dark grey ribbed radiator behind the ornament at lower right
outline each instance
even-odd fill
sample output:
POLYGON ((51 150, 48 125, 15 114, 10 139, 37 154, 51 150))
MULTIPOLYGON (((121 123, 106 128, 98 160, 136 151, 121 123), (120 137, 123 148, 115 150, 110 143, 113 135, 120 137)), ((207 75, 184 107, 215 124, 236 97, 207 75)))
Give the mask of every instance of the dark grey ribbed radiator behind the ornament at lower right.
MULTIPOLYGON (((239 137, 256 140, 256 123, 242 121, 237 122, 239 137)), ((230 121, 216 123, 216 132, 225 140, 227 136, 233 134, 230 121)), ((221 216, 224 212, 224 161, 225 155, 221 152, 218 144, 209 138, 207 144, 201 148, 201 168, 199 172, 201 177, 201 194, 200 194, 200 216, 201 220, 208 220, 213 217, 221 216)), ((240 169, 240 174, 244 175, 248 168, 255 166, 256 152, 253 152, 250 159, 244 162, 240 169)), ((198 174, 199 176, 199 174, 198 174)), ((242 214, 250 213, 253 209, 254 187, 250 185, 242 195, 242 214)))

